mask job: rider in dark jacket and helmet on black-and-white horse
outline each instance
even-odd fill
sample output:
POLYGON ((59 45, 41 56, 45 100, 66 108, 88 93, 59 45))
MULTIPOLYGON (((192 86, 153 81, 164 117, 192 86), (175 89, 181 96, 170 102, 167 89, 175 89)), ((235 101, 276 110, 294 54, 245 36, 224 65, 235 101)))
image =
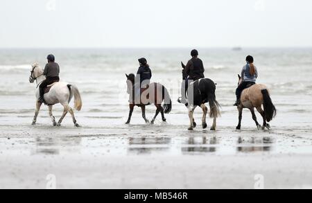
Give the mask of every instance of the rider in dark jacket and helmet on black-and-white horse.
POLYGON ((187 66, 184 68, 184 71, 187 73, 187 78, 184 78, 184 82, 182 82, 181 93, 182 97, 177 100, 178 103, 186 103, 186 92, 189 87, 190 80, 199 80, 201 78, 205 78, 204 72, 204 64, 202 60, 198 58, 198 51, 193 49, 191 51, 191 60, 187 62, 187 66))

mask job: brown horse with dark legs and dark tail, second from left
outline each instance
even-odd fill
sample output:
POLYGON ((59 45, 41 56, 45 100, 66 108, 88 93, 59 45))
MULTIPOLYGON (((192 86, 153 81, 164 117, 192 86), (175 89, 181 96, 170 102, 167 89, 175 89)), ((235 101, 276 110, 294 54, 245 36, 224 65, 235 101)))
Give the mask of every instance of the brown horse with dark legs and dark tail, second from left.
POLYGON ((151 121, 153 124, 155 122, 155 119, 157 118, 159 112, 162 114, 162 121, 166 122, 166 118, 164 117, 164 114, 169 114, 171 112, 172 108, 172 102, 171 98, 168 94, 168 90, 164 85, 161 85, 159 83, 150 83, 148 86, 148 89, 141 89, 141 99, 139 100, 139 103, 135 102, 135 74, 130 73, 129 76, 125 74, 127 77, 127 93, 130 94, 130 100, 129 100, 129 117, 128 121, 125 124, 129 124, 132 116, 132 112, 135 106, 141 107, 142 110, 142 117, 144 118, 144 121, 146 123, 149 123, 148 119, 145 115, 145 107, 147 105, 154 104, 156 106, 156 114, 151 121), (164 107, 162 107, 162 103, 164 102, 164 107))

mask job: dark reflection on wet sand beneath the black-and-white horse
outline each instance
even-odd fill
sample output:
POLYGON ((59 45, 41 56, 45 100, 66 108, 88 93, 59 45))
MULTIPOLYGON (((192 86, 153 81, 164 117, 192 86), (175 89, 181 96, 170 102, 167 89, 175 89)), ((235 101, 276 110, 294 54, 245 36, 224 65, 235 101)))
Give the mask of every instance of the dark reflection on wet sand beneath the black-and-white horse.
POLYGON ((187 147, 182 147, 183 153, 189 152, 216 152, 216 144, 218 144, 218 139, 213 136, 209 139, 207 143, 207 136, 203 137, 190 137, 187 141, 187 147))

